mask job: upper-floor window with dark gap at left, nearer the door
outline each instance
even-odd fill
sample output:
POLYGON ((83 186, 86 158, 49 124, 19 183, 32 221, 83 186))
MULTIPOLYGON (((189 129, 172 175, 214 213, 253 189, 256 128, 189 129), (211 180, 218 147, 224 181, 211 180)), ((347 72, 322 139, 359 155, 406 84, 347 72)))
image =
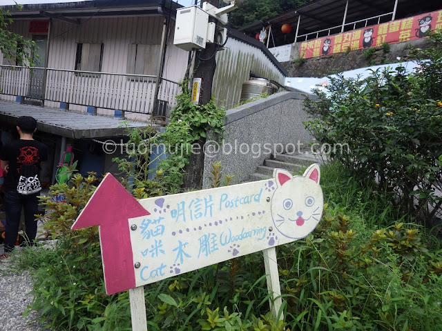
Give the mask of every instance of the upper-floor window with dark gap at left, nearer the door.
POLYGON ((77 43, 75 70, 100 72, 102 70, 102 59, 102 43, 77 43))

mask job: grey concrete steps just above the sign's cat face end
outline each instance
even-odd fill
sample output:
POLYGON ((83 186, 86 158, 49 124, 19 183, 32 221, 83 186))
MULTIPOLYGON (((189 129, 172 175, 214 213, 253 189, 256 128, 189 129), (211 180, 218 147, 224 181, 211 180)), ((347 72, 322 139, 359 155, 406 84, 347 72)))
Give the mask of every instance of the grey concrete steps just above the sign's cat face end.
POLYGON ((264 160, 263 165, 258 165, 255 172, 250 175, 249 181, 262 181, 273 176, 273 169, 282 168, 290 172, 300 172, 313 163, 323 163, 325 157, 320 154, 311 154, 310 150, 300 150, 291 154, 271 154, 264 160))

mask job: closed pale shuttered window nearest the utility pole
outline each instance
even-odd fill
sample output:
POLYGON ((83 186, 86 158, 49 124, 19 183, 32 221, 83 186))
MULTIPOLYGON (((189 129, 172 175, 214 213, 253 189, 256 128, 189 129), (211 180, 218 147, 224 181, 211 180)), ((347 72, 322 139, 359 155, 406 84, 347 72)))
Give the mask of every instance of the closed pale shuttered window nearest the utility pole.
POLYGON ((158 44, 133 43, 129 45, 126 72, 156 76, 160 66, 160 48, 158 44))

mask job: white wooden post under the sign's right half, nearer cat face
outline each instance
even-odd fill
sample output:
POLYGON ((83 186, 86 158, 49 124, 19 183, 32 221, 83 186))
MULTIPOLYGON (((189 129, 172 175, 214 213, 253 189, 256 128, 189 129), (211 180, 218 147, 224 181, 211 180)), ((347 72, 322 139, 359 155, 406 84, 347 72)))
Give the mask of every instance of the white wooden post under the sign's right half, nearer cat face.
MULTIPOLYGON (((270 310, 273 317, 278 319, 278 312, 282 305, 281 286, 279 283, 278 262, 276 261, 276 249, 274 247, 263 250, 265 273, 267 274, 267 290, 271 293, 269 299, 270 310)), ((284 313, 280 312, 280 321, 284 319, 284 313)))

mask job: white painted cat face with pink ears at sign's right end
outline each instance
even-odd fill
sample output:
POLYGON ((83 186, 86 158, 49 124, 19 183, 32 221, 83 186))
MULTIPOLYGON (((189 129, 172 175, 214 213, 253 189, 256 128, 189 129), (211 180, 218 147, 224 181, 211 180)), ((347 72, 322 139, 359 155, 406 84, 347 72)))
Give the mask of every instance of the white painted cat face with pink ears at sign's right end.
POLYGON ((306 237, 323 214, 319 165, 311 165, 302 176, 293 177, 283 169, 274 170, 273 176, 278 186, 271 200, 273 224, 285 237, 306 237))

